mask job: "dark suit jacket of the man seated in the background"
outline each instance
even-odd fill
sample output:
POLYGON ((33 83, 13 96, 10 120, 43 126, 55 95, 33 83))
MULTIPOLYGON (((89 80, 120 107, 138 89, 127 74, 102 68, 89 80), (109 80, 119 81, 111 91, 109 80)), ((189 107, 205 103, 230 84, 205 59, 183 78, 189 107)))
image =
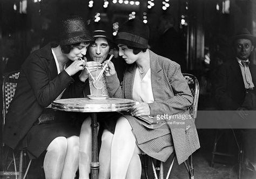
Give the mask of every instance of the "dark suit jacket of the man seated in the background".
MULTIPOLYGON (((250 63, 249 68, 253 84, 256 85, 256 65, 250 63)), ((215 99, 221 110, 237 110, 242 105, 246 91, 237 59, 231 59, 221 65, 215 86, 215 99)), ((256 94, 256 88, 253 92, 256 94)))

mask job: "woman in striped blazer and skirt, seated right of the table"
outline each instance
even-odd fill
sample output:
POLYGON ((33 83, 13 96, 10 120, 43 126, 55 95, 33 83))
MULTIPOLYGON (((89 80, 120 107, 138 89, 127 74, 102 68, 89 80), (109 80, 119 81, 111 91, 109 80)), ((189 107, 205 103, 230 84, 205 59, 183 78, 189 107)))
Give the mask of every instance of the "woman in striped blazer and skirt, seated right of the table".
POLYGON ((165 162, 175 150, 180 164, 200 147, 188 110, 193 98, 180 66, 150 51, 148 41, 146 24, 138 19, 125 22, 115 39, 119 55, 129 65, 123 89, 113 63, 105 71, 111 97, 138 102, 130 114, 117 120, 111 145, 111 179, 140 178, 138 154, 142 152, 165 162))

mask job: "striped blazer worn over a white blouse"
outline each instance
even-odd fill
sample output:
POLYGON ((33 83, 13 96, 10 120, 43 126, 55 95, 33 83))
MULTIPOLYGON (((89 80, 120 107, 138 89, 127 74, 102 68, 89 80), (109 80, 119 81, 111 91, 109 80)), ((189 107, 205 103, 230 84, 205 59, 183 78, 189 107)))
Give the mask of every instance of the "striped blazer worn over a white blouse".
MULTIPOLYGON (((190 89, 181 74, 178 63, 170 59, 150 52, 151 85, 154 102, 149 103, 151 116, 164 114, 188 115, 188 106, 192 104, 193 98, 190 89)), ((123 89, 117 76, 107 76, 107 85, 111 97, 133 99, 133 82, 137 64, 133 63, 127 67, 123 89)), ((172 119, 176 122, 184 122, 183 125, 174 125, 169 119, 165 119, 171 129, 173 145, 178 163, 184 162, 188 156, 200 148, 196 126, 192 118, 172 119)), ((154 128, 154 126, 150 127, 154 128)))

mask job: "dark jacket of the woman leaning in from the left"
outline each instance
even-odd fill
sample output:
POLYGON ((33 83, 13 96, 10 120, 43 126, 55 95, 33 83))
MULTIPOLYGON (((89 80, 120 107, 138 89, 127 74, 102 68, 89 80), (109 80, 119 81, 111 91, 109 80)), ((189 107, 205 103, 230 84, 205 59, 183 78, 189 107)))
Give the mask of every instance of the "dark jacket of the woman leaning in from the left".
POLYGON ((25 137, 44 108, 65 88, 62 98, 83 96, 82 89, 86 83, 78 78, 74 80, 65 70, 57 73, 52 46, 48 44, 33 52, 22 65, 4 125, 4 142, 13 149, 25 137))

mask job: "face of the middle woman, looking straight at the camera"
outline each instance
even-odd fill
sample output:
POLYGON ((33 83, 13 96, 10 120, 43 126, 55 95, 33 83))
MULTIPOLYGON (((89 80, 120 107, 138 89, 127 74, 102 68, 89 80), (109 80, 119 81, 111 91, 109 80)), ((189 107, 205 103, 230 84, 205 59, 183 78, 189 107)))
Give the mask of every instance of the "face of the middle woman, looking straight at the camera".
POLYGON ((106 60, 107 54, 109 54, 109 49, 109 43, 106 38, 99 37, 89 47, 89 56, 93 61, 102 63, 106 60))

